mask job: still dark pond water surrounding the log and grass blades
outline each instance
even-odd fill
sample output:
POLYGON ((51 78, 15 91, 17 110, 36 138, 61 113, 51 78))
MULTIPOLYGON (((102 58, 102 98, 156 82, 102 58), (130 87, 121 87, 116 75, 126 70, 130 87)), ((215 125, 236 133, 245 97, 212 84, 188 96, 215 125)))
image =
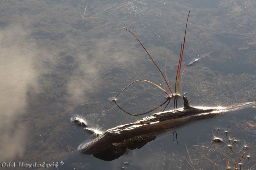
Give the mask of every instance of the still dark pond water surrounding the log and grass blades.
MULTIPOLYGON (((181 70, 205 56, 184 71, 180 93, 195 106, 256 101, 255 7, 255 1, 238 0, 2 0, 0 163, 55 162, 68 155, 68 147, 74 151, 95 138, 70 122, 73 115, 82 115, 89 127, 101 131, 144 117, 128 115, 110 101, 137 79, 167 90, 146 52, 123 27, 140 39, 174 91, 189 10, 181 70)), ((117 103, 138 114, 165 100, 160 89, 137 83, 117 103)), ((173 102, 167 110, 173 109, 173 102)), ((178 107, 183 107, 181 99, 178 107)), ((249 169, 256 164, 255 111, 236 110, 172 129, 179 144, 166 130, 113 161, 74 154, 58 167, 227 169, 225 157, 234 169, 234 159, 239 162, 247 145, 241 169, 249 169), (227 137, 233 140, 234 132, 238 141, 230 149, 225 130, 233 122, 227 137), (221 144, 213 143, 212 132, 223 139, 221 144)))

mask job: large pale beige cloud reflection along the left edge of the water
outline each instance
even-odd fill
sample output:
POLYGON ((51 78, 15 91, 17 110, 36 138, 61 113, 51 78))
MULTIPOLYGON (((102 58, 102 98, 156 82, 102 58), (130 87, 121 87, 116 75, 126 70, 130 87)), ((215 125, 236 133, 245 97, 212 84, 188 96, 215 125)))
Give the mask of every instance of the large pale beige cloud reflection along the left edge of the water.
POLYGON ((7 26, 0 31, 0 159, 11 161, 24 154, 28 127, 20 123, 27 107, 27 89, 36 86, 33 49, 20 42, 26 32, 19 26, 7 26), (18 40, 17 40, 18 39, 18 40))

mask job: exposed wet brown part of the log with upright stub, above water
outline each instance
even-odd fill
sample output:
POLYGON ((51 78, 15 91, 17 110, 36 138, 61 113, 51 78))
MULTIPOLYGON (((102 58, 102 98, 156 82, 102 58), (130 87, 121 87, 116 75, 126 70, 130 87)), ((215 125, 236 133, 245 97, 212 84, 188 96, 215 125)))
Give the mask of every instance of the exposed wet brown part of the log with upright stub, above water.
POLYGON ((92 142, 84 145, 81 152, 84 154, 96 153, 113 144, 118 145, 118 143, 122 143, 134 137, 177 127, 186 122, 213 116, 222 112, 220 108, 193 107, 188 103, 188 99, 185 96, 183 96, 183 100, 184 108, 182 109, 155 113, 142 118, 140 121, 106 130, 92 142))

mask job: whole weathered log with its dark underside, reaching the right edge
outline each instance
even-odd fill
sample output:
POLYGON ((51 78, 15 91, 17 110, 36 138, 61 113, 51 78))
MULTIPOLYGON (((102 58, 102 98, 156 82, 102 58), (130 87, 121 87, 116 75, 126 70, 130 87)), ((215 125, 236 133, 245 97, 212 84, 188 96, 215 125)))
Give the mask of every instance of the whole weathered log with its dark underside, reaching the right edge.
POLYGON ((81 144, 79 149, 81 153, 93 154, 99 159, 110 161, 123 155, 127 148, 141 148, 154 140, 156 137, 150 135, 153 132, 174 128, 200 118, 256 106, 256 102, 247 102, 229 107, 193 107, 186 97, 183 96, 183 100, 184 108, 182 109, 156 113, 140 121, 108 129, 92 142, 81 144))

